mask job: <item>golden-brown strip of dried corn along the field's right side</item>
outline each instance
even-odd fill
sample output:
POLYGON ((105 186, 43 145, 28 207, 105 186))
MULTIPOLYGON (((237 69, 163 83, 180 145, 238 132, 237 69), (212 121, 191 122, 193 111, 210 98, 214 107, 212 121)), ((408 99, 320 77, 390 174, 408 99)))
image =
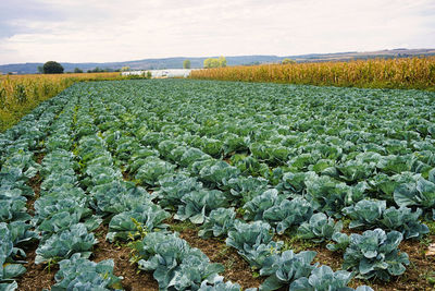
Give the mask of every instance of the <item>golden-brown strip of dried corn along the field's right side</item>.
POLYGON ((191 78, 319 86, 435 89, 435 57, 227 66, 194 70, 191 78))

